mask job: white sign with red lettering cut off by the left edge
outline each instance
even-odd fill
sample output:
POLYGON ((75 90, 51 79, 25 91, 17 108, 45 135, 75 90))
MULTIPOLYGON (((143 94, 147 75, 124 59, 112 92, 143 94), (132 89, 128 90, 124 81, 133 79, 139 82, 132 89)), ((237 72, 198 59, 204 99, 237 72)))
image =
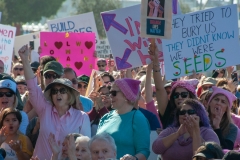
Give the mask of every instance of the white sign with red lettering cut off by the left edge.
POLYGON ((0 60, 4 63, 4 72, 11 73, 12 53, 16 28, 0 24, 0 60))

